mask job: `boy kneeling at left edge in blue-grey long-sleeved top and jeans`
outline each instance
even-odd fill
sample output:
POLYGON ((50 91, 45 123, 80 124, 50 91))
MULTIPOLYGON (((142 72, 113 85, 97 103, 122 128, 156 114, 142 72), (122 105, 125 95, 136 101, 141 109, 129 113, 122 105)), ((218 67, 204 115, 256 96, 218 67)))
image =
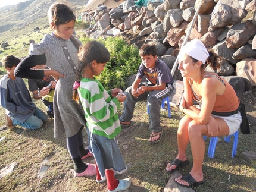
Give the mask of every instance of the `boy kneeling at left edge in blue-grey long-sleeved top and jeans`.
POLYGON ((22 78, 14 76, 15 67, 20 59, 13 55, 2 58, 7 75, 0 80, 0 103, 5 108, 5 126, 15 128, 20 125, 30 130, 42 127, 48 116, 36 107, 22 78))

